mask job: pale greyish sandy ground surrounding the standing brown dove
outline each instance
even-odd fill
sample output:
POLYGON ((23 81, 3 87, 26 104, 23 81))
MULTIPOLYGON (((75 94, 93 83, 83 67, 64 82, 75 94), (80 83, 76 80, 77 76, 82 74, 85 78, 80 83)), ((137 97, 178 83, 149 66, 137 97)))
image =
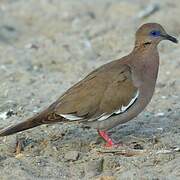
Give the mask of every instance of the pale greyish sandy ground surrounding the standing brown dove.
MULTIPOLYGON (((0 128, 130 52, 140 24, 159 22, 180 37, 179 17, 179 0, 0 0, 0 128)), ((111 130, 127 146, 103 148, 96 130, 82 125, 41 126, 0 138, 0 179, 180 179, 179 47, 160 44, 151 103, 111 130)))

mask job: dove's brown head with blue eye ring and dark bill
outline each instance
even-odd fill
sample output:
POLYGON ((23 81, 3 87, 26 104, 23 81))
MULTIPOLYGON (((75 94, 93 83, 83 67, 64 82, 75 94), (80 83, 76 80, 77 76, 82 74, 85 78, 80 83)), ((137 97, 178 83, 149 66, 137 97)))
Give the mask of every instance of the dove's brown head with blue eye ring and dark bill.
POLYGON ((178 43, 178 40, 175 37, 170 36, 164 28, 157 23, 144 24, 136 32, 136 44, 157 45, 162 40, 178 43))

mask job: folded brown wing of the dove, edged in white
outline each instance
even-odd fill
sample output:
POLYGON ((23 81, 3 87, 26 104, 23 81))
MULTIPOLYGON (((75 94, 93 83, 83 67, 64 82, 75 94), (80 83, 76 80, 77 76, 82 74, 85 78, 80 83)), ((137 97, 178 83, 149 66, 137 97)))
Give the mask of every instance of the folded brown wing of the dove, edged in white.
POLYGON ((104 120, 126 111, 137 99, 131 69, 106 64, 67 90, 55 103, 55 114, 67 120, 104 120))

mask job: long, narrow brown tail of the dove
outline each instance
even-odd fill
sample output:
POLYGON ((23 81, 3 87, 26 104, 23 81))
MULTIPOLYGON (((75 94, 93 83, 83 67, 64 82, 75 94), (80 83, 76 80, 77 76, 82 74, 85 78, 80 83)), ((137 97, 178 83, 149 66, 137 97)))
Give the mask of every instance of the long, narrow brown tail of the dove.
MULTIPOLYGON (((46 113, 47 111, 41 112, 40 114, 35 115, 32 118, 27 119, 24 122, 21 122, 17 125, 13 125, 7 128, 4 128, 0 130, 0 137, 2 136, 9 136, 11 134, 24 131, 27 129, 34 128, 36 126, 40 126, 42 124, 49 124, 53 123, 55 121, 49 120, 48 116, 50 115, 49 113, 46 113)), ((57 121, 56 121, 57 122, 57 121)))

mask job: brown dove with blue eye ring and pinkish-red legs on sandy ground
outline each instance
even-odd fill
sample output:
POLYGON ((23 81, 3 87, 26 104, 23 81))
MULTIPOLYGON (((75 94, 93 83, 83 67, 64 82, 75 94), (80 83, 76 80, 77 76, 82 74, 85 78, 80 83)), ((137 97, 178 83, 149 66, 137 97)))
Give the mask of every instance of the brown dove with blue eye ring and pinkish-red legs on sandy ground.
POLYGON ((45 111, 2 130, 0 136, 70 121, 102 131, 131 120, 151 100, 159 67, 157 45, 164 39, 177 43, 161 25, 144 24, 136 32, 135 47, 129 55, 94 70, 45 111))

